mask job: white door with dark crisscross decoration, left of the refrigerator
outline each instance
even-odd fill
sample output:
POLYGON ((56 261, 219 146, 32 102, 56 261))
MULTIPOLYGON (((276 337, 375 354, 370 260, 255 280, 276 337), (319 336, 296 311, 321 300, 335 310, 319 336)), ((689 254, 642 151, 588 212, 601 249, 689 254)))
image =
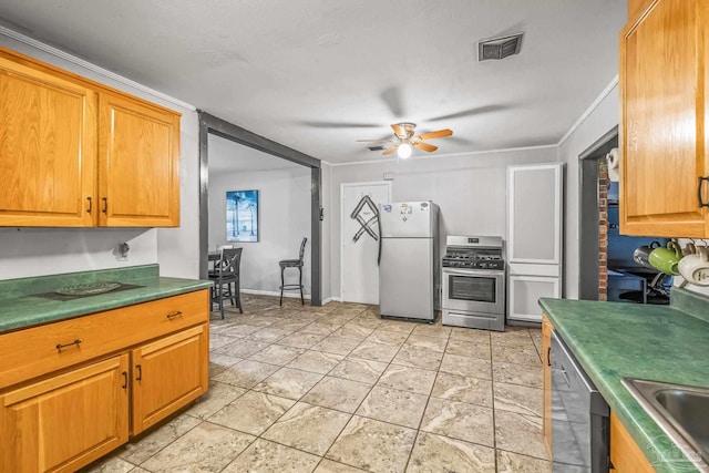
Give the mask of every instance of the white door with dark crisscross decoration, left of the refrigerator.
POLYGON ((340 186, 340 294, 343 302, 379 304, 377 208, 391 203, 391 181, 340 186), (367 198, 369 197, 369 199, 367 198))

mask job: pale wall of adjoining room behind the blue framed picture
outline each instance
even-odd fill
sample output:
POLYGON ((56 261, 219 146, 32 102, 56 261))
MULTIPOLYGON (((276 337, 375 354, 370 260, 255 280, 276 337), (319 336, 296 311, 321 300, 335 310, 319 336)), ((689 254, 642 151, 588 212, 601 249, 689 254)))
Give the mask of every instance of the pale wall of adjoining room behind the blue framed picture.
MULTIPOLYGON (((310 294, 310 168, 288 167, 260 172, 209 173, 209 248, 226 244, 226 192, 258 189, 259 241, 243 247, 242 289, 279 294, 281 259, 298 257, 308 237, 302 271, 304 292, 310 294)), ((287 269, 290 282, 297 271, 287 269)), ((289 281, 286 280, 286 284, 289 281)))

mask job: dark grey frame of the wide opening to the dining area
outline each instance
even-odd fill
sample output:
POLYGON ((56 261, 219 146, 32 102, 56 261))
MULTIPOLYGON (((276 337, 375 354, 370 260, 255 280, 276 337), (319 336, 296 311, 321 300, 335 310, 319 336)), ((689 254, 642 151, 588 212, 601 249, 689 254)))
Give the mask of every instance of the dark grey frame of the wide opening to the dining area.
MULTIPOLYGON (((322 305, 320 161, 199 111, 199 277, 207 279, 209 250, 209 135, 253 147, 310 168, 310 304, 322 305)), ((277 269, 277 268, 276 268, 277 269)))

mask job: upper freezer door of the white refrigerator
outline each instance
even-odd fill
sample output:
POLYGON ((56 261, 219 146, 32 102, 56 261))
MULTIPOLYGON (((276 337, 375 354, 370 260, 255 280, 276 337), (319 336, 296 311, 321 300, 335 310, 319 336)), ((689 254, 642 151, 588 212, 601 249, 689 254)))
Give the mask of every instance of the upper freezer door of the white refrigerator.
POLYGON ((438 207, 428 200, 379 206, 383 237, 430 238, 436 226, 438 207))

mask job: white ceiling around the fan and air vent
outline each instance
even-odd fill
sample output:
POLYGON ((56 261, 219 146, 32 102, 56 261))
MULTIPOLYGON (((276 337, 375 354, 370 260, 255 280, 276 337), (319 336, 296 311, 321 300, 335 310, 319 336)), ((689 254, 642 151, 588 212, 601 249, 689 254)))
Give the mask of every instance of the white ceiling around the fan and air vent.
POLYGON ((557 144, 617 74, 625 0, 2 0, 0 22, 331 163, 557 144), (481 39, 520 55, 477 62, 481 39), (421 151, 415 151, 422 154, 421 151))

